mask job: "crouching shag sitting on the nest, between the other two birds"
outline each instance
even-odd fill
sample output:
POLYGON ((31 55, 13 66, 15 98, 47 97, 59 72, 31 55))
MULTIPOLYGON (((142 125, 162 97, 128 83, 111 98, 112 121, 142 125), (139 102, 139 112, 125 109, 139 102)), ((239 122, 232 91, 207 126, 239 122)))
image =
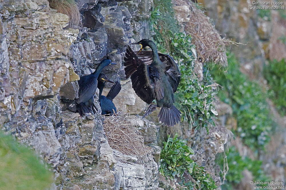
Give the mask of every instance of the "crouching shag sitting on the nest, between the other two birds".
POLYGON ((113 114, 113 110, 115 113, 116 112, 116 107, 112 100, 118 95, 118 93, 121 90, 121 84, 119 81, 114 83, 113 81, 109 80, 105 74, 100 73, 98 79, 97 79, 97 87, 99 89, 99 99, 98 101, 100 102, 100 107, 101 107, 101 114, 106 115, 106 114, 113 114), (114 85, 111 87, 110 91, 108 94, 105 96, 101 95, 103 88, 105 86, 106 82, 113 83, 114 85))

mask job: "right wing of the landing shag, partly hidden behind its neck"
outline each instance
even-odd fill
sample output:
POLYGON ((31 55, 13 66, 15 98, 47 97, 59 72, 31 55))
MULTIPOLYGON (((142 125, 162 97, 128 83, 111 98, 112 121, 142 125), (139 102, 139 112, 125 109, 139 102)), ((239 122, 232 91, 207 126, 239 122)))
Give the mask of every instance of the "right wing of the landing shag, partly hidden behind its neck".
MULTIPOLYGON (((137 53, 137 52, 135 52, 137 53)), ((172 89, 174 92, 177 91, 177 87, 180 83, 181 73, 180 70, 174 61, 174 59, 167 54, 158 53, 161 62, 166 65, 165 72, 168 75, 168 80, 172 85, 172 89)), ((150 65, 153 61, 153 53, 152 51, 141 51, 138 55, 138 59, 142 60, 145 64, 150 65)))

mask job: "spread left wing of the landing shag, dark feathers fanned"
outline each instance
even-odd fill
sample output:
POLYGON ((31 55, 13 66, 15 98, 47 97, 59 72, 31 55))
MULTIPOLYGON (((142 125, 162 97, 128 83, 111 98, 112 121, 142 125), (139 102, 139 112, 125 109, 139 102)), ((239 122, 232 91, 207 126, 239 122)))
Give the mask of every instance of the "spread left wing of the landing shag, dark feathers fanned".
MULTIPOLYGON (((124 57, 126 78, 130 77, 135 93, 146 103, 150 104, 156 98, 154 78, 150 76, 150 68, 128 46, 124 57)), ((151 71, 153 72, 153 71, 151 71)), ((152 75, 153 76, 153 75, 152 75)))

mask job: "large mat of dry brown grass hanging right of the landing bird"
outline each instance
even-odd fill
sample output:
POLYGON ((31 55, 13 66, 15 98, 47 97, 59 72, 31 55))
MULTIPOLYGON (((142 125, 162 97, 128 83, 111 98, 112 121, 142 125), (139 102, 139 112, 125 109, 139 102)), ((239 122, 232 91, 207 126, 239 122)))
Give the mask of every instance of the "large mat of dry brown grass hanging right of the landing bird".
POLYGON ((231 44, 231 41, 222 39, 203 11, 194 4, 191 6, 192 13, 185 31, 192 36, 192 43, 196 46, 198 57, 203 58, 203 62, 211 61, 226 68, 226 46, 231 44))

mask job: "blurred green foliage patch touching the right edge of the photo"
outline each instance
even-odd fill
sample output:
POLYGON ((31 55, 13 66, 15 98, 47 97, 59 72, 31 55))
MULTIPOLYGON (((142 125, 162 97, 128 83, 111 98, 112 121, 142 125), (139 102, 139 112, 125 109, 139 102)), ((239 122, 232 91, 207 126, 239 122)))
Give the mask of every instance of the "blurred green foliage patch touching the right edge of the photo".
POLYGON ((269 86, 269 95, 281 115, 286 114, 286 62, 271 61, 264 69, 264 76, 269 86))

